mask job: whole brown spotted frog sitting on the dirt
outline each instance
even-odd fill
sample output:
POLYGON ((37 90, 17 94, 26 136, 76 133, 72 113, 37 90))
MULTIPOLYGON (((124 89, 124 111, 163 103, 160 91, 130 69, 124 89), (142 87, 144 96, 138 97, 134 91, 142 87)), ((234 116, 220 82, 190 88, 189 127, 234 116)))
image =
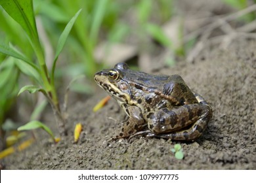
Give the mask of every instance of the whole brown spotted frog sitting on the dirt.
POLYGON ((113 69, 95 73, 94 79, 127 114, 112 139, 144 135, 194 141, 213 115, 211 106, 180 75, 153 75, 117 63, 113 69))

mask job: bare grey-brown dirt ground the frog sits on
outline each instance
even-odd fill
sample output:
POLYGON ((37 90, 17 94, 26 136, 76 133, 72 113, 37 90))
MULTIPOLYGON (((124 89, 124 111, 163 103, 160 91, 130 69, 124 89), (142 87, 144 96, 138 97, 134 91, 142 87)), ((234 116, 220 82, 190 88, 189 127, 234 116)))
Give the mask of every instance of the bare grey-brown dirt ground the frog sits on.
MULTIPOLYGON (((124 112, 111 99, 98 112, 95 103, 106 93, 70 106, 68 137, 58 144, 45 132, 30 148, 3 159, 6 169, 256 169, 256 41, 236 39, 226 49, 204 48, 194 63, 180 62, 159 73, 179 74, 213 108, 213 118, 194 142, 180 142, 184 159, 173 156, 179 142, 135 137, 106 142, 121 127, 124 112), (77 122, 83 133, 73 143, 77 122)), ((53 114, 45 114, 53 121, 53 114)), ((50 124, 51 125, 51 124, 50 124)))

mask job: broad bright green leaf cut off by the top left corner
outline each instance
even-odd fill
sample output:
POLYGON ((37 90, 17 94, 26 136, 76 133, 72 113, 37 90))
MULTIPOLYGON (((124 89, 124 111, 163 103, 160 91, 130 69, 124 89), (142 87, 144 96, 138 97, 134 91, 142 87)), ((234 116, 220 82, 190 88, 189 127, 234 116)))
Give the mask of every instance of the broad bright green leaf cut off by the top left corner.
POLYGON ((34 40, 38 37, 32 0, 0 0, 0 5, 22 26, 30 39, 34 40))

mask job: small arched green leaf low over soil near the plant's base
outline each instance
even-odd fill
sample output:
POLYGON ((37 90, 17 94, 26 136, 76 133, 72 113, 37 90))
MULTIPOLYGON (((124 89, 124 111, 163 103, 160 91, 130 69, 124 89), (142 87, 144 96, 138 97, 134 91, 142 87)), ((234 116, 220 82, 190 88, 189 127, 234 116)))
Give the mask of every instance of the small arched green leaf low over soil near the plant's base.
POLYGON ((18 127, 18 131, 31 130, 31 129, 37 129, 37 128, 44 129, 47 133, 49 133, 49 135, 51 135, 51 137, 54 140, 54 135, 53 135, 53 132, 51 131, 51 129, 49 129, 49 127, 47 127, 47 125, 42 124, 41 122, 39 122, 37 120, 33 120, 31 122, 28 122, 25 125, 22 125, 22 126, 18 127))

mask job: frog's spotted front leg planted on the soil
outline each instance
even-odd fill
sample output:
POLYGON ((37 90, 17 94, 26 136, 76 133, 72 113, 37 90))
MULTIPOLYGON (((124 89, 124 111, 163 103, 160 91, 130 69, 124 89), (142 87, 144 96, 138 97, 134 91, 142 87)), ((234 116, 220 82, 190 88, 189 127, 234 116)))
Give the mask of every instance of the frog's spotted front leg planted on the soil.
POLYGON ((145 120, 139 107, 129 106, 126 110, 129 119, 125 122, 121 131, 112 139, 127 138, 137 131, 140 131, 145 125, 145 120))

